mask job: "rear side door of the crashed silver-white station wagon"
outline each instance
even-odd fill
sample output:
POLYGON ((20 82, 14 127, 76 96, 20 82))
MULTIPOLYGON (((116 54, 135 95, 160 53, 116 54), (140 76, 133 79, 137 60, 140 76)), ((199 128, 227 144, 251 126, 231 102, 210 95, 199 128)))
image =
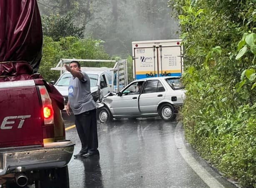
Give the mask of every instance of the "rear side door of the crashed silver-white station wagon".
POLYGON ((158 113, 158 104, 165 95, 166 89, 160 80, 148 80, 139 98, 139 110, 142 114, 158 113))

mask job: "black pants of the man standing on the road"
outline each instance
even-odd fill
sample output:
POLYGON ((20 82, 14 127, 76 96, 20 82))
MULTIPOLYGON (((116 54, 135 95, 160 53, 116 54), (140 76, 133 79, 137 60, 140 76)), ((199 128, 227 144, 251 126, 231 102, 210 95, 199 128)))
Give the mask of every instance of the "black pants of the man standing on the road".
POLYGON ((97 152, 98 133, 96 109, 75 115, 75 126, 82 143, 81 152, 97 152))

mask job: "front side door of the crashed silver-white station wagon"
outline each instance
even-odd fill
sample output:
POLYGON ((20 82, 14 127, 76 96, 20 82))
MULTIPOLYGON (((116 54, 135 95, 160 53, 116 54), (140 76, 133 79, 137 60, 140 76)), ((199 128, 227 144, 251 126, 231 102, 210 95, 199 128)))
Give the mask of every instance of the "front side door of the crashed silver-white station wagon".
POLYGON ((143 85, 143 81, 136 81, 128 85, 123 91, 122 96, 113 97, 111 108, 115 115, 138 115, 138 97, 140 95, 139 86, 143 85))

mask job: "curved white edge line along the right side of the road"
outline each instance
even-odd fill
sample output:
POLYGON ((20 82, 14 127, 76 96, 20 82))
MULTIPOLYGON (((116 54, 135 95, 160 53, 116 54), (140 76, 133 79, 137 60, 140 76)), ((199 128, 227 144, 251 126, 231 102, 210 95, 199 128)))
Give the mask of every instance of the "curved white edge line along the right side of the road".
POLYGON ((184 160, 188 165, 197 173, 197 175, 210 187, 210 188, 224 188, 224 186, 216 180, 210 173, 208 173, 197 161, 191 153, 186 150, 184 144, 184 136, 181 130, 182 123, 179 122, 175 128, 175 145, 181 153, 184 160))

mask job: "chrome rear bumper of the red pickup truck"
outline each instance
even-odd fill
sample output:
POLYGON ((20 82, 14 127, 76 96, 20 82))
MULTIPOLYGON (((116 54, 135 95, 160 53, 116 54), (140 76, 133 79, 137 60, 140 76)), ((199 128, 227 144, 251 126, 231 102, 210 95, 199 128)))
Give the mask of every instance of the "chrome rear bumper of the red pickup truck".
POLYGON ((67 165, 73 155, 74 143, 63 141, 45 147, 22 147, 0 150, 0 176, 8 173, 67 165))

